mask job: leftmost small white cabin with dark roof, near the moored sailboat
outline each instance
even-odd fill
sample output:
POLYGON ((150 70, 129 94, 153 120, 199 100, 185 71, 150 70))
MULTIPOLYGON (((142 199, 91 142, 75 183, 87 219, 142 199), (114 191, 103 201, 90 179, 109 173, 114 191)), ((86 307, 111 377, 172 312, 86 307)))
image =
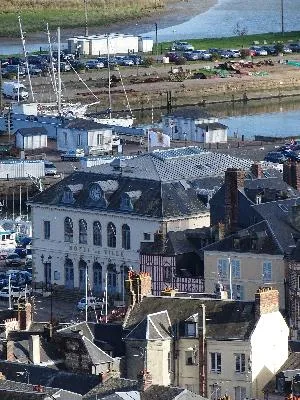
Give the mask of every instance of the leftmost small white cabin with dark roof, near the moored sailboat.
POLYGON ((47 138, 47 131, 43 127, 21 128, 15 133, 16 147, 22 150, 47 147, 47 138))

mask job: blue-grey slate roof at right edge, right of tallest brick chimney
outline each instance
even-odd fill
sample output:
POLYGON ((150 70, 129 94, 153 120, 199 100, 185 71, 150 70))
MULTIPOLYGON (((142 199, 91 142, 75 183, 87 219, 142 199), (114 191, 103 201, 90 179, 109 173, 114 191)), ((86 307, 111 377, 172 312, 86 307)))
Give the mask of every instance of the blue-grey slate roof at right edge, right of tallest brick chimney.
POLYGON ((292 208, 300 205, 300 198, 277 200, 256 204, 252 209, 262 219, 268 221, 282 252, 289 253, 300 235, 300 226, 291 220, 292 208))

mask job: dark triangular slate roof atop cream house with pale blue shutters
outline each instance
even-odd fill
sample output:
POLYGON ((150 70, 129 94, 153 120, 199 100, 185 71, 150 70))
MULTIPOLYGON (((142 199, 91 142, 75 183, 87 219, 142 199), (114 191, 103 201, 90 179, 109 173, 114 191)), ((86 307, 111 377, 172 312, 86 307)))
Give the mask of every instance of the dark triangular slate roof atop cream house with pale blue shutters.
POLYGON ((283 254, 267 221, 258 222, 227 236, 219 242, 206 246, 204 251, 233 251, 235 253, 283 254), (238 240, 238 244, 236 241, 238 240), (253 245, 255 240, 255 245, 253 245))

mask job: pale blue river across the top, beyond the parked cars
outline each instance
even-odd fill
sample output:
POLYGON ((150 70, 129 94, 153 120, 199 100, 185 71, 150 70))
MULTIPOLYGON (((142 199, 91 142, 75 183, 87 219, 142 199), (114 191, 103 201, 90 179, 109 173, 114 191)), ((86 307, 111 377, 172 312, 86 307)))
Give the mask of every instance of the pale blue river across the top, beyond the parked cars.
MULTIPOLYGON (((189 7, 189 1, 186 1, 189 7)), ((298 0, 219 0, 218 3, 208 11, 198 14, 179 25, 170 22, 169 27, 159 29, 160 18, 157 18, 158 41, 172 41, 178 39, 209 38, 233 36, 234 29, 239 24, 240 28, 248 34, 263 32, 285 32, 300 31, 300 7, 298 0), (281 8, 283 4, 283 12, 281 8)), ((171 19, 170 19, 171 21, 171 19)), ((143 26, 132 24, 131 27, 121 28, 120 33, 134 33, 150 36, 155 40, 155 30, 143 31, 143 26)), ((38 51, 40 48, 47 49, 46 35, 44 41, 30 43, 27 41, 28 52, 38 51)), ((41 40, 43 35, 41 35, 41 40)), ((64 37, 62 30, 62 37, 64 37)), ((55 47, 55 37, 53 43, 55 47)), ((62 48, 67 44, 62 43, 62 48)), ((17 54, 22 52, 21 40, 15 39, 9 42, 5 38, 0 39, 0 54, 17 54)))

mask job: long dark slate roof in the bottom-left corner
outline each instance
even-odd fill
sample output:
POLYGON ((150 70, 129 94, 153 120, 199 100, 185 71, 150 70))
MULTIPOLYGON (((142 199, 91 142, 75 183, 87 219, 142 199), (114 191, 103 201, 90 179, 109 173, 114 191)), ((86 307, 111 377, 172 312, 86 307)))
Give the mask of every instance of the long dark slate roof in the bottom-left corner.
POLYGON ((50 367, 3 360, 0 360, 0 371, 6 376, 6 379, 19 382, 24 381, 24 377, 20 377, 17 372, 28 371, 30 374, 30 383, 33 385, 60 388, 82 395, 95 387, 99 382, 99 377, 96 375, 75 374, 57 371, 50 367))

